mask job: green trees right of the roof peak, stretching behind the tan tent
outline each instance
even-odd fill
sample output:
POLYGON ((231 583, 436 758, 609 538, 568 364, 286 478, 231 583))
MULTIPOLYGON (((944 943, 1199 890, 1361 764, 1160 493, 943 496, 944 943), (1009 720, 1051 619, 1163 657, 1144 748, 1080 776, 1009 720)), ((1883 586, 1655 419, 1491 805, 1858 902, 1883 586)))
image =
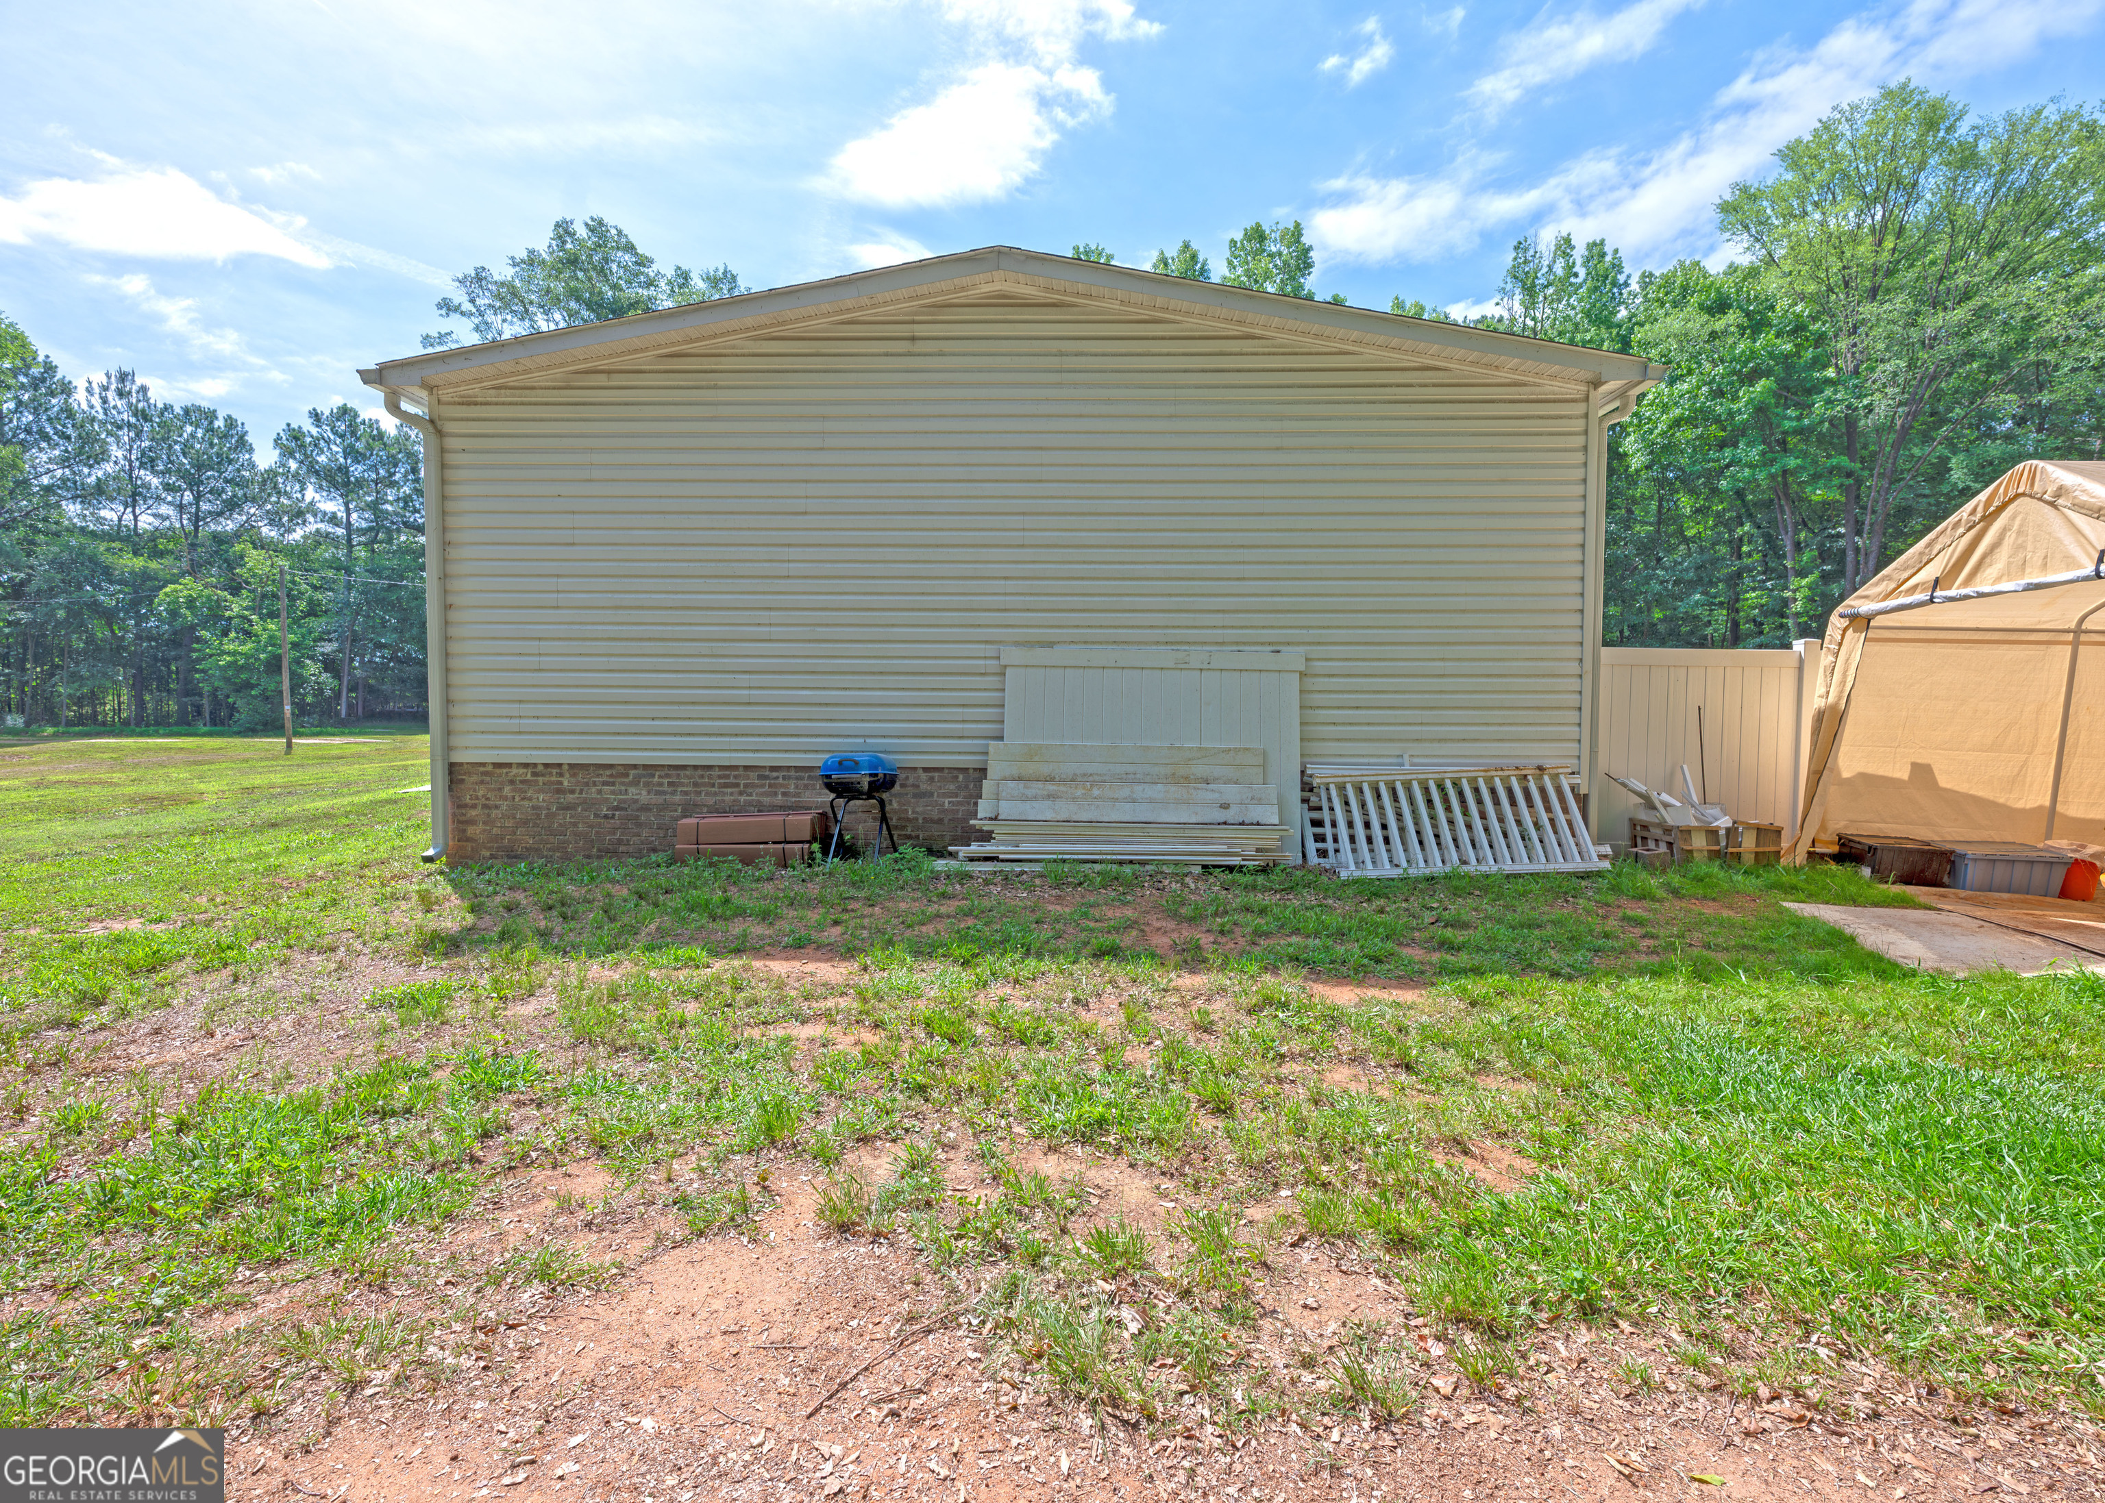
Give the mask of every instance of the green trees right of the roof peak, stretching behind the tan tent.
MULTIPOLYGON (((1488 314, 1389 303, 1669 366, 1608 446, 1608 642, 1817 636, 2010 465, 2101 459, 2097 112, 2048 101, 1970 120, 1949 95, 1892 84, 1787 143, 1716 215, 1718 267, 1631 276, 1606 240, 1526 236, 1488 314)), ((1149 269, 1212 278, 1189 240, 1149 269)), ((1252 223, 1221 280, 1314 297, 1301 225, 1252 223)))

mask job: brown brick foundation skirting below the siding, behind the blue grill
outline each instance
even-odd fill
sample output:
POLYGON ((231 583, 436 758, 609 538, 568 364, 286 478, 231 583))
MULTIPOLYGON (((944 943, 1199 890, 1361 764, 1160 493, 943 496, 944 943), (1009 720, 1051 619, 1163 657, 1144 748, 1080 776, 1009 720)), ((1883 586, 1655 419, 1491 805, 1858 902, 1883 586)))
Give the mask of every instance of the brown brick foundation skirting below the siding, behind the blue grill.
MULTIPOLYGON (((901 846, 983 840, 973 829, 977 766, 903 766, 886 796, 901 846)), ((659 762, 455 762, 448 861, 581 861, 648 857, 674 846, 688 815, 819 808, 810 766, 667 766, 659 762)), ((876 808, 853 804, 848 834, 869 844, 876 808)))

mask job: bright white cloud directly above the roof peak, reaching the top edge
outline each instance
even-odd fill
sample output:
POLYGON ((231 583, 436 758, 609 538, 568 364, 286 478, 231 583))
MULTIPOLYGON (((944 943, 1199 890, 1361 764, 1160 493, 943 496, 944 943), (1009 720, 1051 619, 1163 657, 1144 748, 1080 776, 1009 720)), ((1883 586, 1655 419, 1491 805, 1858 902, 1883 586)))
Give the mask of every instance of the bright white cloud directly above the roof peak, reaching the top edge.
POLYGON ((928 103, 840 147, 821 187, 886 208, 1002 198, 1063 131, 1111 114, 1101 74, 1078 61, 1082 42, 1162 32, 1130 0, 943 0, 943 15, 970 29, 977 61, 928 103))

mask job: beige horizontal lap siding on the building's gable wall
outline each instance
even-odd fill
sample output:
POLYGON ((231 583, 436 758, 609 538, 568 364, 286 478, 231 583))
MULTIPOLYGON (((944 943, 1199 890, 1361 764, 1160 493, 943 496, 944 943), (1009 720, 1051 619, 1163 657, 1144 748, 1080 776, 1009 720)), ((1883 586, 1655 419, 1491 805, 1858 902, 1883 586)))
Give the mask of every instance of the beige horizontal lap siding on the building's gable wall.
POLYGON ((1585 398, 1015 293, 446 396, 453 758, 977 764, 1008 644, 1579 754, 1585 398))

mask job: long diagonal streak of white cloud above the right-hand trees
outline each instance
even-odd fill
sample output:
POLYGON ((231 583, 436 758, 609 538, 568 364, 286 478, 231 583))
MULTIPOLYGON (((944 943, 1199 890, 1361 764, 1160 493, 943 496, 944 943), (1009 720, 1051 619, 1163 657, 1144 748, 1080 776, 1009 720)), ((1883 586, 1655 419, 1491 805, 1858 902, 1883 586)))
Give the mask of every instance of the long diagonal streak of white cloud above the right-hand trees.
POLYGON ((1850 17, 1812 48, 1772 48, 1718 91, 1703 120, 1652 152, 1600 147, 1518 185, 1469 154, 1438 173, 1347 173, 1309 215, 1318 250, 1341 261, 1425 261, 1495 232, 1604 236, 1627 257, 1711 255, 1711 206, 1758 175, 1779 145, 1886 82, 1943 86, 2006 67, 2052 36, 2082 32, 2105 0, 1913 0, 1850 17))

